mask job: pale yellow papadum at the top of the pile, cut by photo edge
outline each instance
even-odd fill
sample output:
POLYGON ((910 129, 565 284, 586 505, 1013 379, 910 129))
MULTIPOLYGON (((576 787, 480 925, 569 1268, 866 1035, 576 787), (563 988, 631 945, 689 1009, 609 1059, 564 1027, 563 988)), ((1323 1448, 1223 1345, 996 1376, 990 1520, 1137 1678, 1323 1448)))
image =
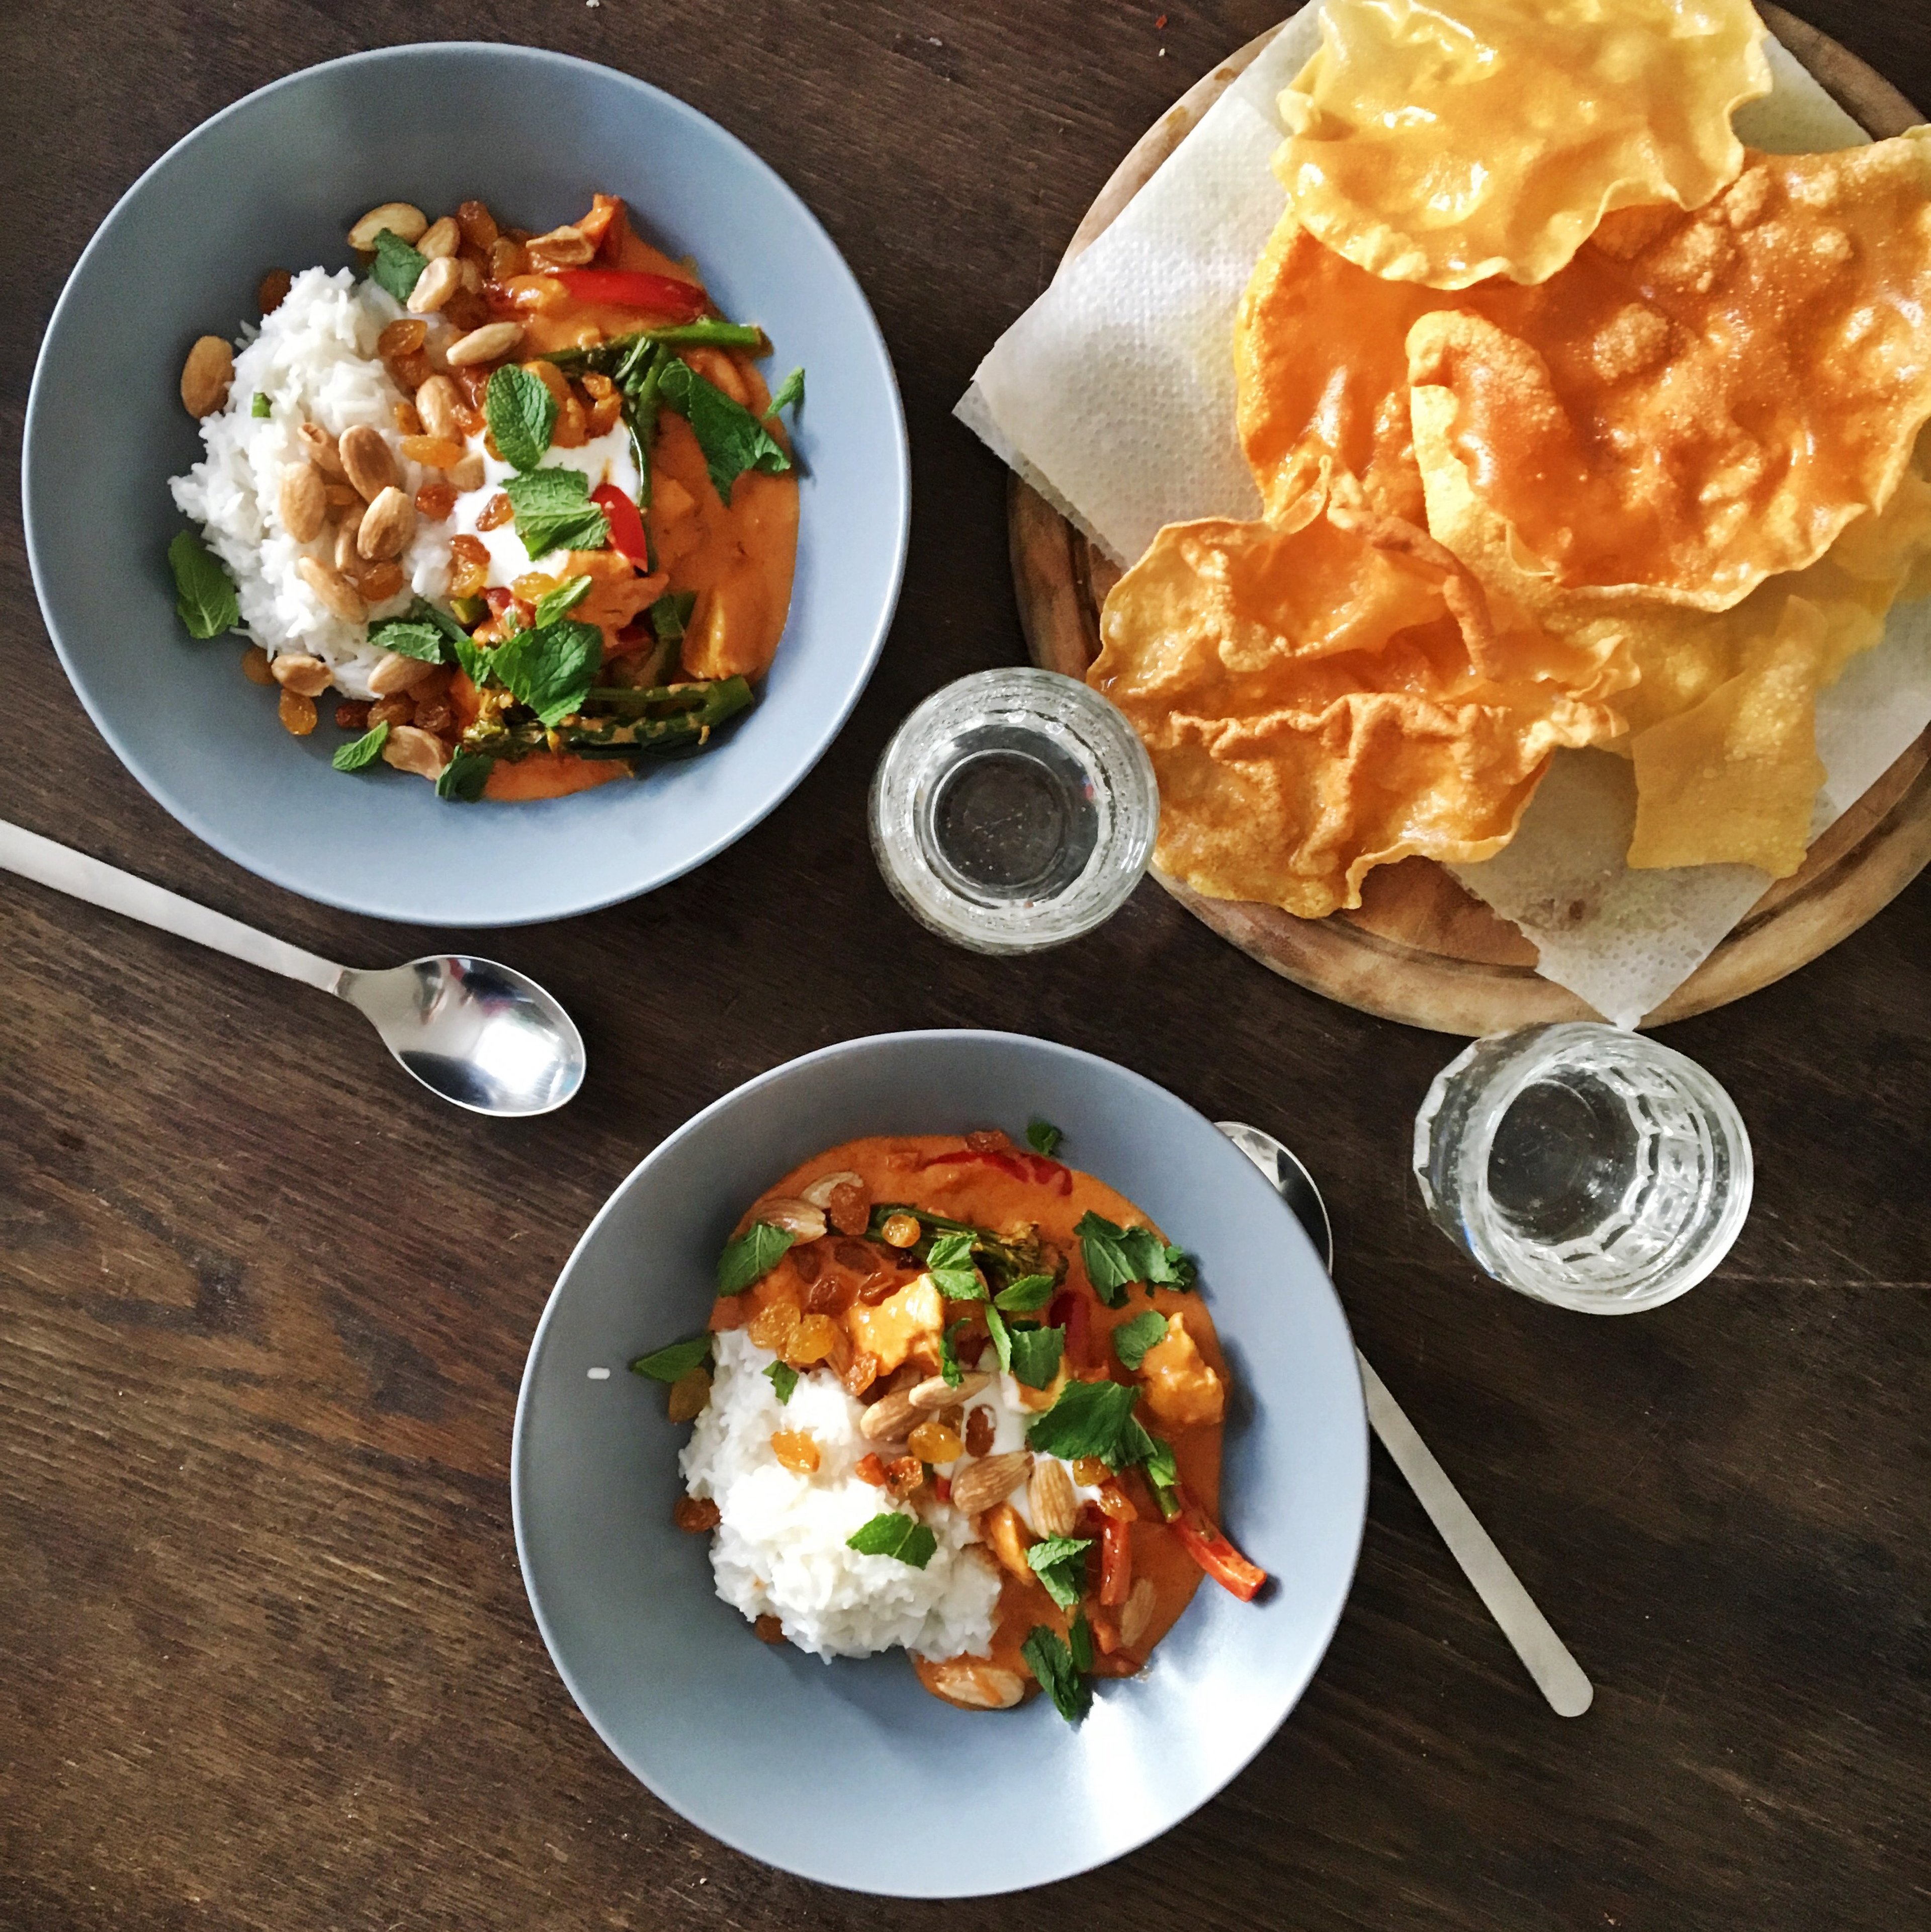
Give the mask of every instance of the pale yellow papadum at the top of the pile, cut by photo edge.
POLYGON ((1749 0, 1327 0, 1274 172, 1386 280, 1543 282, 1612 209, 1736 176, 1763 37, 1749 0))

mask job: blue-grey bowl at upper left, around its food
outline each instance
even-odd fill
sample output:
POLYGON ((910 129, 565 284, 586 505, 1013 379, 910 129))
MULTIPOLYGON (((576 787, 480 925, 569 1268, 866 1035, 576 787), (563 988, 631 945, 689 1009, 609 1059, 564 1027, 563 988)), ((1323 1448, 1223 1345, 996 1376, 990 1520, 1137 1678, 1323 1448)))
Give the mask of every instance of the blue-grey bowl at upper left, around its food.
POLYGON ((120 199, 41 346, 21 493, 60 661, 122 763, 189 831, 294 893, 425 925, 518 925, 647 893, 749 831, 817 763, 871 674, 910 514, 879 325, 811 211, 742 141, 630 75, 527 46, 394 46, 292 73, 172 147, 120 199), (180 402, 199 334, 255 315, 270 267, 348 263, 380 201, 481 195, 546 228, 591 189, 695 255, 718 305, 807 371, 792 620, 759 707, 701 757, 525 806, 328 769, 290 738, 239 641, 195 643, 164 551, 166 479, 199 456, 180 402))

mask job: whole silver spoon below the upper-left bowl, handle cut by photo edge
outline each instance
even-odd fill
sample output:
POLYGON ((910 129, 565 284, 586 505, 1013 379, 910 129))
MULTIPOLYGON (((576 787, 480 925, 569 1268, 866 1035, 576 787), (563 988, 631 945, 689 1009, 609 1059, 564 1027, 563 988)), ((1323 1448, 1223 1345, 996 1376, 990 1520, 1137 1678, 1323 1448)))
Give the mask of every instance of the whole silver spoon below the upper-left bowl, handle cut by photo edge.
POLYGON ((4 819, 0 867, 346 999, 431 1094, 471 1113, 550 1113, 583 1086, 570 1014, 494 960, 444 952, 386 972, 336 966, 4 819))

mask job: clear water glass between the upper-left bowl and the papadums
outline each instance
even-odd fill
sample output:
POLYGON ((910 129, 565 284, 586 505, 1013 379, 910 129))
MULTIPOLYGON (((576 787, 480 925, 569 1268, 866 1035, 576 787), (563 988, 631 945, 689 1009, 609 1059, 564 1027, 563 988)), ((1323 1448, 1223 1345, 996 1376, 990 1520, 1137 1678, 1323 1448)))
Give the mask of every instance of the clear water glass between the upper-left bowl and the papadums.
POLYGON ((1077 678, 981 670, 919 705, 871 781, 900 904, 975 952, 1037 952, 1126 902, 1153 856, 1147 748, 1077 678))

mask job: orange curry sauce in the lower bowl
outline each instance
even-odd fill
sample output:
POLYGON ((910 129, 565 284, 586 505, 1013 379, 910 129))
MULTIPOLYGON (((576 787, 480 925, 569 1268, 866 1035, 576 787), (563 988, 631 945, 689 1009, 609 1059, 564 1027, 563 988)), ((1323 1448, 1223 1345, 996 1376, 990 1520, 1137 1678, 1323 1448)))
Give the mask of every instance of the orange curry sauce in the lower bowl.
MULTIPOLYGON (((902 1291, 921 1279, 921 1264, 881 1238, 852 1233, 865 1227, 871 1206, 902 1204, 952 1221, 967 1221, 996 1235, 1037 1231, 1045 1246, 1064 1258, 1066 1273, 1052 1304, 1039 1310, 1033 1320, 1064 1323, 1068 1335, 1060 1379, 1039 1391, 1020 1385, 1027 1406, 1039 1412, 1050 1408, 1068 1376, 1087 1381, 1112 1378, 1141 1385, 1145 1393, 1137 1410, 1139 1420, 1172 1443, 1180 1480, 1191 1501, 1207 1517, 1218 1517, 1226 1360, 1213 1318, 1197 1293, 1149 1291, 1143 1283, 1130 1287, 1118 1308, 1105 1306, 1087 1279, 1079 1238, 1074 1233, 1089 1211, 1116 1227, 1151 1227, 1153 1223, 1130 1200, 1091 1175, 1014 1150, 1002 1134, 973 1134, 971 1146, 962 1144, 958 1136, 940 1134, 869 1138, 830 1148, 786 1175, 743 1215, 736 1233, 742 1235, 753 1221, 763 1219, 770 1204, 799 1198, 815 1180, 836 1173, 857 1175, 863 1200, 834 1198, 832 1225, 825 1236, 790 1248, 778 1265, 743 1294, 720 1296, 711 1316, 713 1329, 749 1325, 751 1339, 759 1341, 763 1335, 788 1329, 788 1314, 759 1320, 776 1304, 788 1304, 799 1316, 826 1314, 836 1321, 836 1339, 828 1354, 813 1354, 813 1360, 794 1366, 832 1368, 859 1401, 873 1403, 938 1370, 940 1329, 931 1320, 917 1320, 915 1310, 904 1312, 910 1298, 902 1291), (836 1225, 840 1221, 848 1231, 840 1231, 836 1225), (1066 1298, 1077 1302, 1077 1310, 1066 1298), (1168 1318, 1178 1316, 1184 1339, 1159 1343, 1149 1350, 1141 1372, 1130 1374, 1114 1354, 1112 1331, 1149 1308, 1168 1318)), ((1161 1238, 1164 1240, 1164 1235, 1161 1238)), ((979 1360, 987 1339, 983 1304, 942 1304, 944 1323, 960 1316, 975 1320, 975 1327, 958 1347, 960 1362, 969 1368, 979 1360)), ((819 1343, 823 1331, 811 1335, 803 1352, 811 1352, 819 1343)), ((969 1403, 964 1420, 969 1426, 969 1403)), ((1081 1482, 1103 1474, 1110 1476, 1103 1466, 1076 1466, 1081 1482)), ((910 1492, 910 1501, 919 1507, 935 1495, 948 1499, 950 1484, 933 1478, 927 1468, 925 1480, 910 1492)), ((1153 1492, 1137 1468, 1110 1476, 1103 1497, 1108 1511, 1128 1519, 1130 1578, 1112 1594, 1126 1594, 1130 1584, 1145 1580, 1151 1582, 1151 1605, 1149 1594, 1141 1592, 1133 1615, 1126 1619, 1132 1629, 1128 1642, 1122 1634, 1124 1605, 1101 1600, 1105 1513, 1089 1501, 1081 1505, 1074 1528, 1076 1536, 1093 1540, 1081 1607, 1093 1627, 1093 1675, 1130 1677, 1188 1607, 1203 1573, 1182 1538, 1162 1520, 1153 1492)), ((881 1492, 881 1507, 892 1507, 892 1495, 881 1492)), ((1023 1549, 1033 1536, 1014 1511, 1006 1505, 987 1509, 979 1519, 979 1536, 987 1561, 1000 1565, 991 1663, 1021 1679, 1025 1694, 1031 1694, 1037 1687, 1020 1646, 1039 1625, 1064 1636, 1070 1613, 1052 1602, 1025 1565, 1023 1549)), ((919 1681, 935 1694, 966 1708, 987 1708, 991 1702, 971 1694, 971 1665, 983 1660, 913 1658, 911 1662, 919 1681), (966 1694, 952 1696, 948 1679, 958 1685, 958 1671, 966 1673, 966 1694)))

